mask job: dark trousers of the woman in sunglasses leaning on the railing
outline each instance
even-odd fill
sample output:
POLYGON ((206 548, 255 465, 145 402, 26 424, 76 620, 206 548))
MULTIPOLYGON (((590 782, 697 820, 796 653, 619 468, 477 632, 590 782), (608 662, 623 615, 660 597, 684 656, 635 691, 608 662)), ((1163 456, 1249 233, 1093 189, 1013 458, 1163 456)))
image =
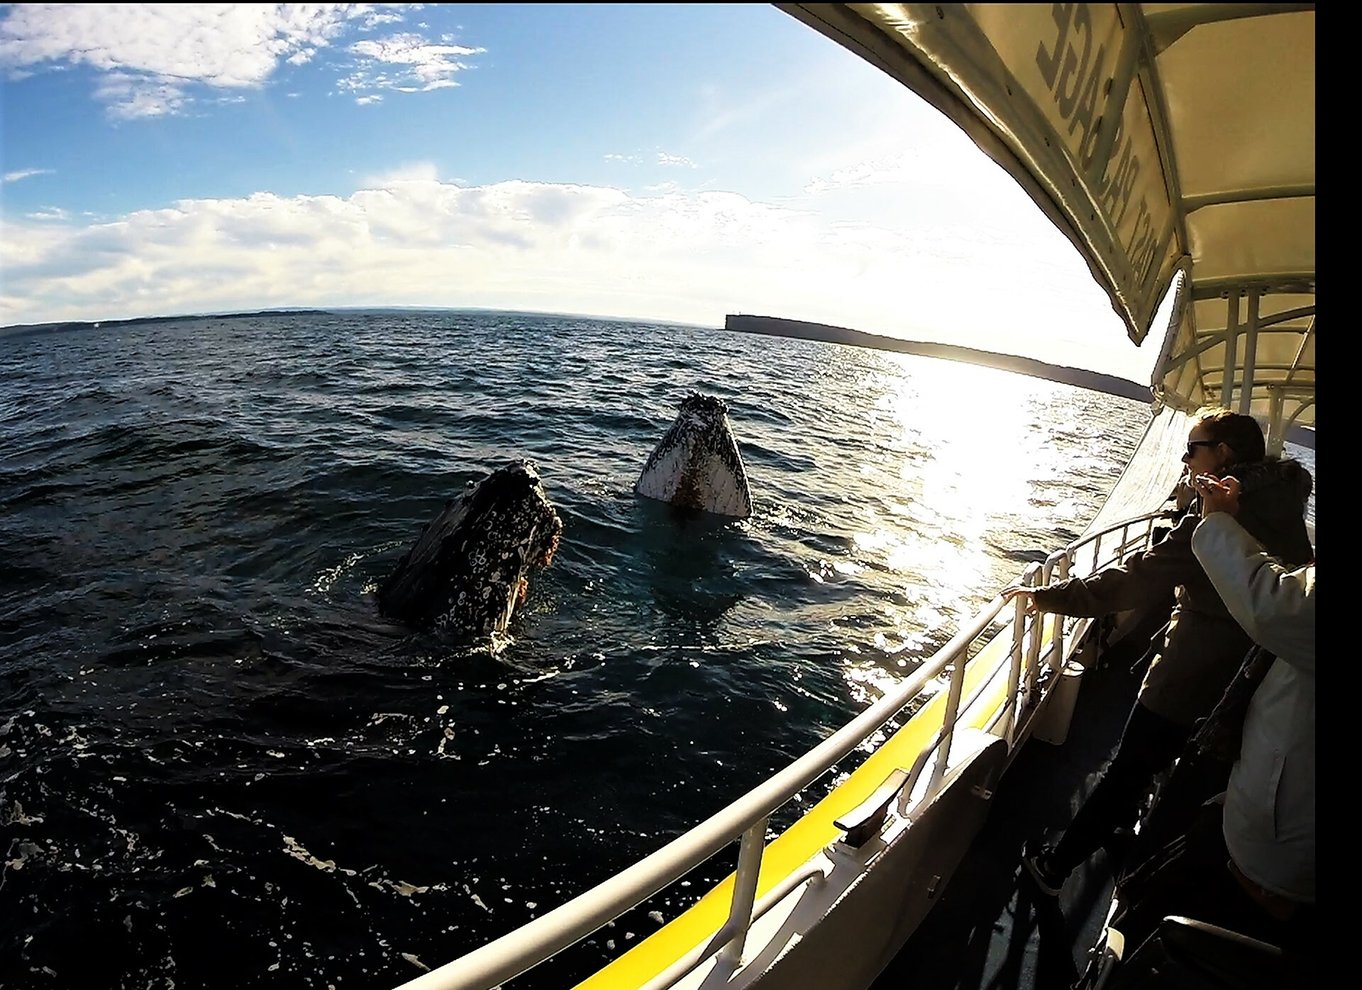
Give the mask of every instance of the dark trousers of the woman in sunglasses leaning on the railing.
POLYGON ((1133 825, 1154 778, 1182 753, 1192 729, 1155 715, 1136 701, 1115 756, 1073 816, 1050 862, 1069 873, 1096 852, 1115 829, 1133 825))

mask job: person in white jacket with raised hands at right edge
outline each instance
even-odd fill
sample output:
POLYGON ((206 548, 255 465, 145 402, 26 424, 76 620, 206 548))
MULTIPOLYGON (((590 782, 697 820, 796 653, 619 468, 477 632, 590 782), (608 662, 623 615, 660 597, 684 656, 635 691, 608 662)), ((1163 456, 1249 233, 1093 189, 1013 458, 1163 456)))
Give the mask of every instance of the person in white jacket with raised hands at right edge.
POLYGON ((1314 561, 1287 569, 1234 520, 1238 482, 1201 475, 1192 550, 1253 640, 1276 655, 1249 701, 1224 795, 1230 872, 1268 914, 1314 903, 1314 561))

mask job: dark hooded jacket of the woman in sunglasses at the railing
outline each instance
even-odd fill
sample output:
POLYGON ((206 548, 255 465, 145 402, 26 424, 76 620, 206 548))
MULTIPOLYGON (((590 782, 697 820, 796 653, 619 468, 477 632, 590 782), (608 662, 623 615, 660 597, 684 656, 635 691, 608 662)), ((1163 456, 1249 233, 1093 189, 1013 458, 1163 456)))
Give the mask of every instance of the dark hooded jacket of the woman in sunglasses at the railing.
MULTIPOLYGON (((1290 568, 1314 557, 1305 528, 1310 473, 1291 459, 1234 464, 1239 479, 1239 524, 1290 568)), ((1253 645, 1192 553, 1200 523, 1193 511, 1167 538, 1117 566, 1035 591, 1036 607, 1062 616, 1106 616, 1148 607, 1174 592, 1175 605, 1159 654, 1140 685, 1140 704, 1155 715, 1192 726, 1209 714, 1253 645)))

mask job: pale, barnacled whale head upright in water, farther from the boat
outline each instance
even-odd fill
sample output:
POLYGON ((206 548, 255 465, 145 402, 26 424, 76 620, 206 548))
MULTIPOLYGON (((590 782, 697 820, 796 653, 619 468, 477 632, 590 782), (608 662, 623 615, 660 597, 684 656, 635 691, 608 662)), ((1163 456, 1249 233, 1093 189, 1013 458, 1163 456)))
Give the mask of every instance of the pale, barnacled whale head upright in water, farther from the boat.
POLYGON ((633 490, 677 508, 752 515, 752 490, 723 399, 692 392, 643 466, 633 490))

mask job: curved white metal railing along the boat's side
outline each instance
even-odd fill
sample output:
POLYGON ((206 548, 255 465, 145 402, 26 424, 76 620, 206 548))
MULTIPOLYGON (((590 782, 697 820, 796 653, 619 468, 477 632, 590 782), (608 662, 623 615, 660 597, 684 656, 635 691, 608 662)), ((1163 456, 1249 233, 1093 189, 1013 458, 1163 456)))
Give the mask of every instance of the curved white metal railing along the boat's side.
MULTIPOLYGON (((1062 580, 1075 569, 1081 573, 1092 573, 1124 560, 1130 553, 1148 547, 1154 535, 1154 524, 1166 517, 1162 512, 1148 513, 1117 523, 1099 532, 1087 534, 1062 550, 1050 554, 1043 565, 1031 564, 1027 566, 1022 583, 1026 586, 1045 584, 1050 580, 1062 580), (1120 532, 1120 538, 1114 549, 1107 547, 1107 554, 1103 557, 1103 539, 1115 532, 1120 532), (1083 560, 1088 560, 1090 553, 1091 558, 1087 566, 1076 568, 1080 554, 1083 560)), ((949 670, 941 729, 914 761, 900 791, 900 810, 907 810, 908 797, 913 794, 919 775, 932 756, 936 754, 936 765, 923 795, 923 801, 930 799, 945 779, 951 739, 960 712, 968 709, 987 686, 986 680, 962 703, 970 647, 989 632, 1004 605, 1000 594, 898 688, 783 771, 768 778, 689 832, 542 918, 403 983, 400 990, 490 990, 497 987, 605 927, 625 911, 670 887, 734 840, 741 839, 729 919, 708 942, 677 960, 666 972, 650 982, 648 987, 662 990, 714 955, 722 953, 726 959, 737 960, 742 953, 746 931, 756 918, 799 884, 821 880, 821 872, 805 870, 789 877, 776 889, 756 900, 767 821, 771 814, 827 773, 843 757, 864 745, 870 735, 907 708, 929 682, 949 670)), ((1020 714, 1035 700, 1042 666, 1060 670, 1069 658, 1069 652, 1065 650, 1066 637, 1069 641, 1077 643, 1091 621, 1086 618, 1065 620, 1062 616, 1054 616, 1050 641, 1042 658, 1041 617, 1035 617, 1034 621, 1027 621, 1027 618, 1024 603, 1017 599, 1012 617, 1007 701, 989 722, 990 731, 1005 738, 1009 746, 1016 744, 1020 714), (998 726, 1001 726, 1000 731, 998 726)))

